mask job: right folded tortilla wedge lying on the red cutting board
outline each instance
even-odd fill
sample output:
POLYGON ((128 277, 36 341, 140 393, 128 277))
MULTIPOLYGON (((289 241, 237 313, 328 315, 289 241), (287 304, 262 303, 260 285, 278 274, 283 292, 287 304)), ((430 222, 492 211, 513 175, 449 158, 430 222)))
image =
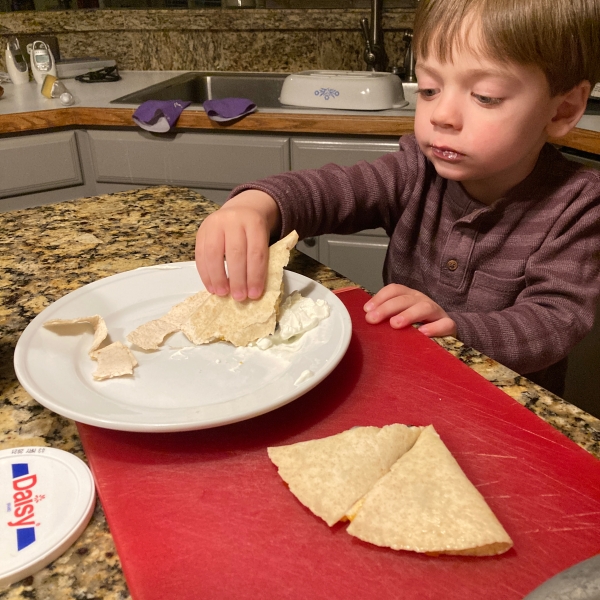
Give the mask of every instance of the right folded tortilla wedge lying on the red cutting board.
POLYGON ((433 426, 365 496, 348 533, 415 552, 491 556, 513 542, 433 426))

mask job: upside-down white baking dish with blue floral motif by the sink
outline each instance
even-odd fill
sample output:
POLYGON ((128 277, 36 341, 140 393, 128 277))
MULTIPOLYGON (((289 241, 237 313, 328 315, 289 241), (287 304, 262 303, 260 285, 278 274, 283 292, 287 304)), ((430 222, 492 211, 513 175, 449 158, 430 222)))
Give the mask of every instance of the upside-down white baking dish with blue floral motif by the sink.
POLYGON ((402 108, 402 82, 376 71, 302 71, 288 75, 279 101, 289 106, 343 110, 402 108))

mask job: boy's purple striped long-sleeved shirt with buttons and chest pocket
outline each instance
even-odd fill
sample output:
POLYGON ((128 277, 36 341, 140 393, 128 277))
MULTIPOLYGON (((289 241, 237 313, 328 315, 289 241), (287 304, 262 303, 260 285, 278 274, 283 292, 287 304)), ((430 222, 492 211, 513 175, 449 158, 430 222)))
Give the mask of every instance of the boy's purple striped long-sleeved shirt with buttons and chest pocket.
POLYGON ((257 188, 300 238, 383 227, 386 283, 437 302, 458 339, 519 373, 557 363, 591 329, 600 292, 600 172, 547 144, 492 206, 440 177, 414 136, 352 167, 284 173, 257 188))

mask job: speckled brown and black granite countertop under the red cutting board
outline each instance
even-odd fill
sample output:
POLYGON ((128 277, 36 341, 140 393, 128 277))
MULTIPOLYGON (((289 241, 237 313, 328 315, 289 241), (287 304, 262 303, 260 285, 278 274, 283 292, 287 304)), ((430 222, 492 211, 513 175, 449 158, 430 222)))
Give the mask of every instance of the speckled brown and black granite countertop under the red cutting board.
MULTIPOLYGON (((199 223, 217 205, 185 188, 156 187, 0 215, 0 450, 52 446, 85 460, 73 421, 33 400, 13 369, 17 340, 45 307, 123 271, 192 260, 199 223)), ((289 268, 339 289, 353 283, 294 252, 289 268)), ((436 340, 520 404, 600 458, 600 420, 454 338, 436 340)), ((130 598, 98 503, 90 524, 45 569, 0 590, 0 599, 130 598)))

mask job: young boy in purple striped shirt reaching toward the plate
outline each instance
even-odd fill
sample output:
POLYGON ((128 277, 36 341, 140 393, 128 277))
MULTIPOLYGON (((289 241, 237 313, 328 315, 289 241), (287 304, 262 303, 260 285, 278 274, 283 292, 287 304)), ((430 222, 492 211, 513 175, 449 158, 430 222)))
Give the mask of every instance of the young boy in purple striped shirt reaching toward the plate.
POLYGON ((423 323, 562 393, 600 290, 600 172, 547 139, 576 125, 600 80, 599 5, 421 0, 414 136, 371 164, 235 189, 198 231, 207 289, 259 297, 271 234, 383 227, 388 285, 369 323, 423 323))

